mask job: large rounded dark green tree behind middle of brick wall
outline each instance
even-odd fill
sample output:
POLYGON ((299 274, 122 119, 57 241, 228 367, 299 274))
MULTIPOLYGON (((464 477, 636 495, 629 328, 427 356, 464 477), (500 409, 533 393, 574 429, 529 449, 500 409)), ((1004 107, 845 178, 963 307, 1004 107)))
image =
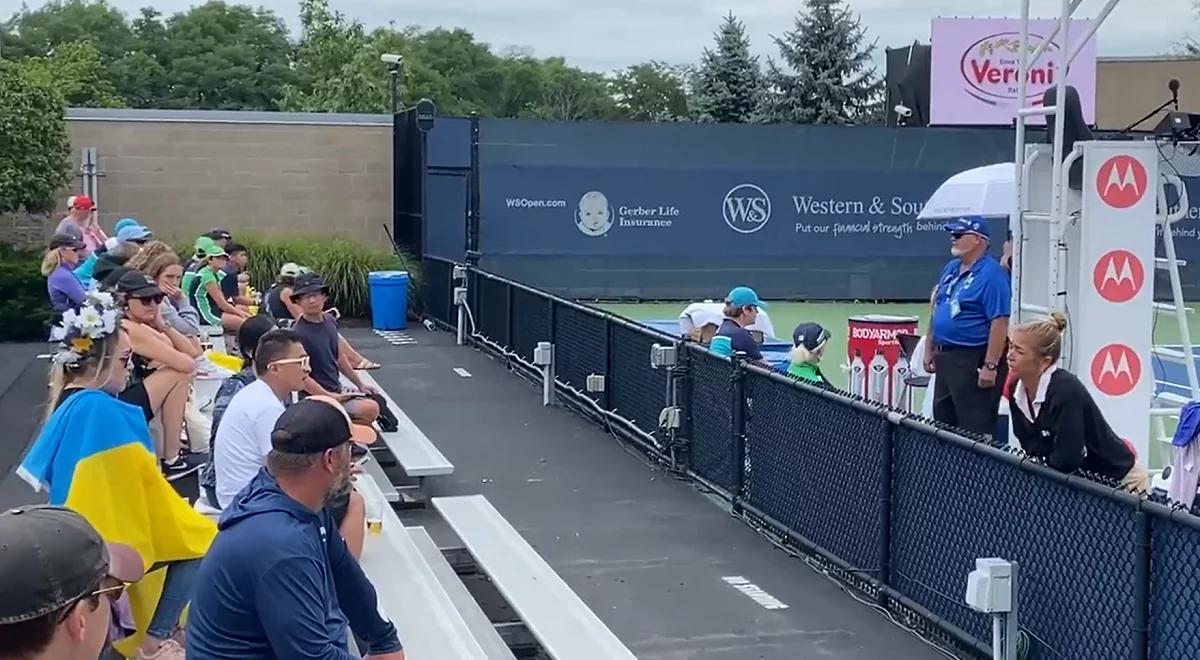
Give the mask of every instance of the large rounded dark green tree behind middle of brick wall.
POLYGON ((160 64, 169 108, 274 110, 294 78, 283 20, 220 0, 167 20, 160 64))

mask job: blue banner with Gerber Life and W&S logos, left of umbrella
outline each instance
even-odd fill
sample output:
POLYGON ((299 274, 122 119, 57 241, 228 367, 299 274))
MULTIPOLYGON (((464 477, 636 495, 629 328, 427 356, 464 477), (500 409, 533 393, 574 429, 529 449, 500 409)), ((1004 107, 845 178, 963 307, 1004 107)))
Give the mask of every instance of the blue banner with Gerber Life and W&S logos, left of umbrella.
POLYGON ((490 167, 482 242, 491 254, 941 256, 942 221, 917 214, 950 174, 490 167))

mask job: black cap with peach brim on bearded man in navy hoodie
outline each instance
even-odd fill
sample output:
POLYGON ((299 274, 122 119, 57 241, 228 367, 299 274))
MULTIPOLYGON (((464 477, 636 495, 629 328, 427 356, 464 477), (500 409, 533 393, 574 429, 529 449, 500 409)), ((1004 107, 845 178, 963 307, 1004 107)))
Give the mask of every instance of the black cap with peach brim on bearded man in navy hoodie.
POLYGON ((371 444, 374 428, 350 421, 336 398, 317 395, 288 406, 271 431, 271 449, 286 454, 320 454, 347 442, 371 444))

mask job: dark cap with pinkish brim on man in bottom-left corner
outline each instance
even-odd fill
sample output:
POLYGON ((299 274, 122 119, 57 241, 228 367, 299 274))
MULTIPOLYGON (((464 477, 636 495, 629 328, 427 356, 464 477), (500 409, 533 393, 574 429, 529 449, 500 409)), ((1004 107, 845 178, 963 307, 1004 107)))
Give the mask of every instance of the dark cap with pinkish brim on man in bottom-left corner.
POLYGON ((22 506, 0 514, 0 625, 28 622, 86 598, 104 577, 142 580, 142 557, 106 544, 79 514, 22 506))

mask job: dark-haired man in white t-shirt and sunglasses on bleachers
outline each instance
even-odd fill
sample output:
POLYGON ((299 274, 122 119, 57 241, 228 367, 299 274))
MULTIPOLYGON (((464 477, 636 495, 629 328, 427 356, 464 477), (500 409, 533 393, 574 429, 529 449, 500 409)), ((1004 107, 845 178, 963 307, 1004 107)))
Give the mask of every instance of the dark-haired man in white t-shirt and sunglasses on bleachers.
POLYGON ((254 348, 258 379, 229 401, 212 448, 217 503, 222 509, 250 484, 271 450, 275 421, 308 377, 308 354, 292 330, 271 330, 254 348))

